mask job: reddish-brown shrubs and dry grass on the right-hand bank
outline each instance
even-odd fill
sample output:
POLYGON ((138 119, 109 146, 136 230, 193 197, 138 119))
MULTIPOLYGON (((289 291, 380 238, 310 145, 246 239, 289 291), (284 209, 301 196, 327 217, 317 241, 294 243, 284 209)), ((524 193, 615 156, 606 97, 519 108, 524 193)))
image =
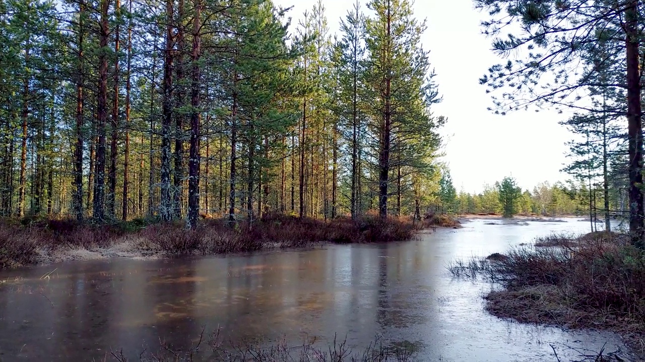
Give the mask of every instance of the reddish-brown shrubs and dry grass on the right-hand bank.
POLYGON ((489 258, 457 261, 454 276, 491 281, 486 310, 525 323, 619 332, 645 347, 645 251, 628 236, 554 235, 489 258), (537 246, 540 245, 540 246, 537 246))

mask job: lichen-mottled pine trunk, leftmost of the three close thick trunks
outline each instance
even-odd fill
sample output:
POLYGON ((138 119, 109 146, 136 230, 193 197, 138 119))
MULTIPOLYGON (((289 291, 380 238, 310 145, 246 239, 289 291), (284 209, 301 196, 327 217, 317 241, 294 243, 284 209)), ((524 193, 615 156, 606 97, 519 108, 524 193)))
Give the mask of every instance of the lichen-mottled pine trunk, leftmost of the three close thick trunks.
POLYGON ((173 33, 173 0, 166 0, 166 49, 164 52, 163 72, 163 118, 161 123, 161 204, 159 215, 161 220, 169 222, 173 218, 172 190, 170 187, 170 133, 173 113, 173 62, 174 62, 174 33, 173 33))

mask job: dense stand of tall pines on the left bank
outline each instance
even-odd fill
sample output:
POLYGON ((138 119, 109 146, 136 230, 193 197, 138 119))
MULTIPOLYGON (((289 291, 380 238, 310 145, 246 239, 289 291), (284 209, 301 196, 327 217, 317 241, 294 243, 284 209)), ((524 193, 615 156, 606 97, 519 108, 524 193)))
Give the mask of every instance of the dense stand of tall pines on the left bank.
POLYGON ((0 212, 421 215, 444 117, 408 1, 0 2, 0 212))

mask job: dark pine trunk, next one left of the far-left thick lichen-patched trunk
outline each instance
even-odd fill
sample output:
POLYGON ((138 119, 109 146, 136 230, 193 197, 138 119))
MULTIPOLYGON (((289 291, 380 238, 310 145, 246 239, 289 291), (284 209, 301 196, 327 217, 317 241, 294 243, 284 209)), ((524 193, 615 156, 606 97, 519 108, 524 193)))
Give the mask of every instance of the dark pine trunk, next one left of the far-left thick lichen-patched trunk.
POLYGON ((84 84, 84 53, 83 53, 83 18, 84 3, 79 1, 79 38, 78 38, 78 80, 76 82, 76 147, 74 149, 74 201, 72 207, 76 220, 83 220, 83 84, 84 84))

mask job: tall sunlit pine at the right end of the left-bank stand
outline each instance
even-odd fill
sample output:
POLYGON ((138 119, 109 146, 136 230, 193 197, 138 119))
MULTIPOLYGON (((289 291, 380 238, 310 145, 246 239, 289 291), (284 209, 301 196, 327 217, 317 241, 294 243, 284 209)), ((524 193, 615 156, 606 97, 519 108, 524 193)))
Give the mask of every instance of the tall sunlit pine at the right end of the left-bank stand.
MULTIPOLYGON (((377 140, 371 148, 379 175, 379 215, 385 218, 391 171, 397 171, 398 186, 403 167, 429 167, 428 161, 439 148, 435 129, 444 119, 430 113, 432 104, 441 98, 432 81, 428 52, 421 48, 425 23, 413 17, 407 0, 373 0, 368 8, 376 15, 366 19, 366 97, 376 100, 368 113, 370 131, 377 140)), ((401 186, 397 196, 401 204, 401 186)))

